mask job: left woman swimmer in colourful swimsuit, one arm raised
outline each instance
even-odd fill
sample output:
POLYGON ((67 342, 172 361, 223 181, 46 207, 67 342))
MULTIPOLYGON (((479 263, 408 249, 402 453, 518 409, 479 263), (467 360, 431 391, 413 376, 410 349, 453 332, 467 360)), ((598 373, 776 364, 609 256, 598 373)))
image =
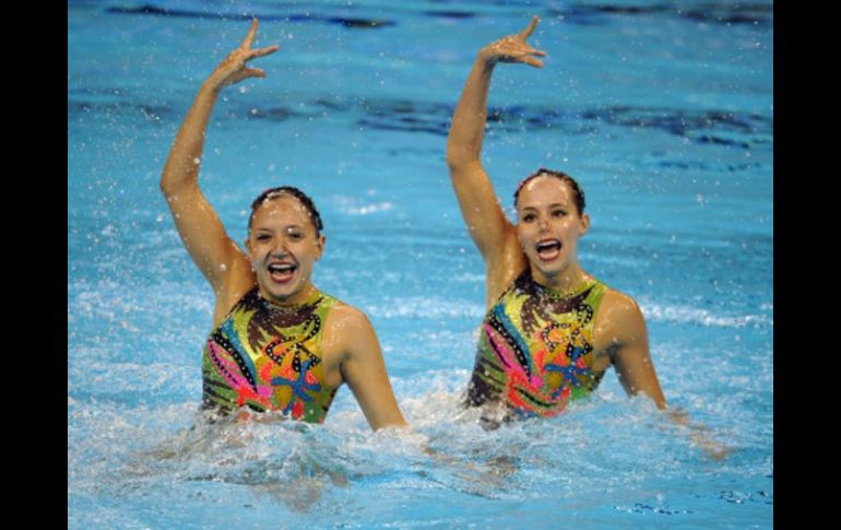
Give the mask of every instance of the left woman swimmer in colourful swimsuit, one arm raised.
POLYGON ((215 294, 202 356, 203 409, 211 419, 281 411, 321 423, 346 382, 371 428, 405 425, 368 318, 312 284, 325 244, 312 200, 292 186, 262 192, 251 204, 242 251, 199 188, 196 161, 220 91, 264 78, 247 62, 279 49, 252 50, 257 28, 254 20, 241 46, 202 83, 161 177, 178 234, 215 294))

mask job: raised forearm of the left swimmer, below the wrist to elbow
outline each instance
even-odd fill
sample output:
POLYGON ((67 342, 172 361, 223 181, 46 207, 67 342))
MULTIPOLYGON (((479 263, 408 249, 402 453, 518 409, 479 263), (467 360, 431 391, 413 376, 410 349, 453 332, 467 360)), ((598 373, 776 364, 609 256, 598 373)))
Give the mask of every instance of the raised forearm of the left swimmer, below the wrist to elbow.
POLYGON ((199 94, 187 113, 166 160, 161 176, 161 189, 164 193, 171 195, 186 184, 198 181, 204 136, 217 97, 217 86, 205 82, 199 89, 199 94))

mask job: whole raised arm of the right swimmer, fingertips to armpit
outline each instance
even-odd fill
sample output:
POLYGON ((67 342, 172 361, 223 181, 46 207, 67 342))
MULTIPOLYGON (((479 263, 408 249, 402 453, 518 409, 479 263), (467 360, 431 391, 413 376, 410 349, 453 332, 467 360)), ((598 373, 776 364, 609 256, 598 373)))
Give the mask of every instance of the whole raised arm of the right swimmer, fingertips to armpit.
MULTIPOLYGON (((546 54, 532 48, 526 38, 534 32, 537 17, 517 35, 509 35, 479 50, 464 84, 461 99, 452 117, 447 139, 447 165, 462 216, 473 242, 488 269, 488 297, 497 291, 497 269, 508 254, 521 255, 513 226, 506 219, 490 179, 482 165, 482 142, 487 122, 487 94, 494 67, 498 62, 521 62, 541 68, 535 57, 546 54)), ((497 293, 498 294, 498 293, 497 293)))

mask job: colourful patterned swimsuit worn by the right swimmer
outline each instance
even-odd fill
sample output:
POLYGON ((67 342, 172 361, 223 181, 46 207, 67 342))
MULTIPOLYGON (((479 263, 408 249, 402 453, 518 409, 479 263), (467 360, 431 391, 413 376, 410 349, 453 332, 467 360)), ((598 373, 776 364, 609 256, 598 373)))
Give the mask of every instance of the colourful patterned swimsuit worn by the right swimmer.
POLYGON ((606 292, 588 276, 561 296, 520 274, 482 322, 465 404, 504 403, 510 420, 554 416, 589 396, 604 376, 592 369, 593 322, 606 292))

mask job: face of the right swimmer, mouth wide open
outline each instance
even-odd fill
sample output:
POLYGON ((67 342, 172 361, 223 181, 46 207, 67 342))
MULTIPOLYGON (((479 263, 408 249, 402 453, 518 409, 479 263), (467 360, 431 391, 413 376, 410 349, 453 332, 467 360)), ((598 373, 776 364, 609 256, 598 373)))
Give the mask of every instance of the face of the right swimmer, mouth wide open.
POLYGON ((578 239, 590 216, 579 214, 568 184, 550 176, 526 182, 517 201, 517 237, 535 279, 554 278, 578 264, 578 239))

